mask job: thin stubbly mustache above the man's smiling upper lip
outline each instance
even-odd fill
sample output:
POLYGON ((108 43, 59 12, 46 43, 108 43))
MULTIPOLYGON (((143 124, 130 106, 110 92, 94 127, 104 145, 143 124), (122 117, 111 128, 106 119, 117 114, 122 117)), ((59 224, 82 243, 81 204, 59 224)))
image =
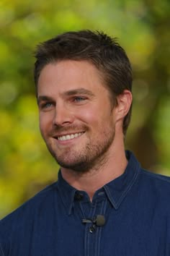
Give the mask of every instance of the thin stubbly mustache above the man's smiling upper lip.
POLYGON ((69 125, 67 127, 63 127, 60 125, 55 125, 53 129, 50 131, 50 136, 55 136, 58 133, 67 133, 67 132, 85 132, 88 128, 86 125, 69 125))

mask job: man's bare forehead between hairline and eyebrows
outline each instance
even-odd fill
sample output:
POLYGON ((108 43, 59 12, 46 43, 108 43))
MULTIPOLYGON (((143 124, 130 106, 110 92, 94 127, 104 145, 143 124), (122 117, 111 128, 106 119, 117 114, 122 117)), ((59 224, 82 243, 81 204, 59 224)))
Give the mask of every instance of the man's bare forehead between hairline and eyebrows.
POLYGON ((87 88, 101 90, 104 88, 102 74, 89 61, 64 60, 47 64, 40 72, 37 93, 42 90, 74 90, 87 88))

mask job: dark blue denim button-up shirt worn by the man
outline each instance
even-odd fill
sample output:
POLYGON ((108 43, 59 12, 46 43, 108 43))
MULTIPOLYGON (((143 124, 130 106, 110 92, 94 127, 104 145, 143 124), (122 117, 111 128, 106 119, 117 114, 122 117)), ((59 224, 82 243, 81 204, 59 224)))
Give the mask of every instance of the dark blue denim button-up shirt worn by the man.
POLYGON ((58 182, 0 222, 0 255, 170 255, 170 179, 140 168, 132 153, 127 157, 125 173, 92 202, 59 172, 58 182), (97 215, 104 226, 82 222, 97 215))

